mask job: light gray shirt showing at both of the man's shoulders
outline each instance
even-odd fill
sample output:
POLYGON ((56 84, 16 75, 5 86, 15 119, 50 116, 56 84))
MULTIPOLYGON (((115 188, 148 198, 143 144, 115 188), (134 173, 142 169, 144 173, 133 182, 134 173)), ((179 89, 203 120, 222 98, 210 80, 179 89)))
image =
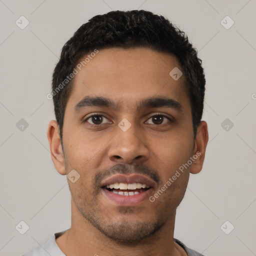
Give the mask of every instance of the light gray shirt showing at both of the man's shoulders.
MULTIPOLYGON (((67 230, 67 229, 66 229, 67 230)), ((44 243, 42 246, 39 246, 22 256, 65 256, 65 254, 60 250, 58 245, 56 244, 55 238, 63 234, 66 230, 53 233, 52 236, 49 238, 49 240, 44 243)), ((188 256, 203 256, 201 253, 187 248, 181 241, 174 238, 174 241, 179 244, 187 253, 188 256)))

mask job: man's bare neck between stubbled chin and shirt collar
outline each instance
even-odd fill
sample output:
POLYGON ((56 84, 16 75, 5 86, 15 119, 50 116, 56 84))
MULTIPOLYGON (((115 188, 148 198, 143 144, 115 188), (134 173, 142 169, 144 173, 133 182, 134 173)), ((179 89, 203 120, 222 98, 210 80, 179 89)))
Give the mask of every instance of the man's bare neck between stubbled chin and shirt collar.
POLYGON ((186 255, 173 241, 176 212, 172 212, 164 225, 147 238, 135 242, 112 240, 102 234, 81 214, 71 199, 71 227, 56 238, 56 243, 65 255, 186 255), (73 214, 74 213, 74 214, 73 214))

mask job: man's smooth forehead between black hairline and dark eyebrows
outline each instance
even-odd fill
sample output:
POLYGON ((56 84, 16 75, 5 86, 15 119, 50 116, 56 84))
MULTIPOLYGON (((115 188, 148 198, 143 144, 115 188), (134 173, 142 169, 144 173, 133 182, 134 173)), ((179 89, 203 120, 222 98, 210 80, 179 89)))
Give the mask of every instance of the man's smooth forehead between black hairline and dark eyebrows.
POLYGON ((182 71, 174 55, 144 47, 107 48, 86 60, 73 78, 67 102, 72 107, 86 95, 112 98, 126 108, 157 94, 176 101, 187 97, 184 75, 177 80, 170 75, 173 68, 182 71))

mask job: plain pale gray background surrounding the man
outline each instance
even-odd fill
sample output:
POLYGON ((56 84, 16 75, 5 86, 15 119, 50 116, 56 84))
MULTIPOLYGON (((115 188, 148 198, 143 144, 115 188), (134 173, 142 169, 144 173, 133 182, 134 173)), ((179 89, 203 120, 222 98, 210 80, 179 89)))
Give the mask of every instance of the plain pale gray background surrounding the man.
POLYGON ((190 175, 178 207, 175 237, 205 255, 256 255, 255 6, 255 0, 0 0, 0 255, 21 255, 70 226, 66 176, 54 169, 46 137, 54 119, 46 94, 66 40, 111 9, 164 15, 203 60, 209 142, 203 169, 190 175), (21 15, 29 21, 24 29, 15 24, 21 15), (229 29, 220 23, 226 15, 234 21, 229 29), (16 126, 21 118, 28 123, 23 131, 16 126), (29 226, 24 234, 15 228, 21 220, 29 226), (234 226, 229 234, 220 228, 226 220, 222 230, 234 226))

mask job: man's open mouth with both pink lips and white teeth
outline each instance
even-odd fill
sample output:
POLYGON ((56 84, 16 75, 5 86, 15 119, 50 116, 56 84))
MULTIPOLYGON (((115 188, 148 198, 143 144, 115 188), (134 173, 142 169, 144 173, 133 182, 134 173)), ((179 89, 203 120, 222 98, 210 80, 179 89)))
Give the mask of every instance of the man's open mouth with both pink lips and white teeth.
POLYGON ((131 206, 141 203, 153 191, 154 182, 142 175, 117 174, 101 184, 103 194, 117 205, 131 206))

